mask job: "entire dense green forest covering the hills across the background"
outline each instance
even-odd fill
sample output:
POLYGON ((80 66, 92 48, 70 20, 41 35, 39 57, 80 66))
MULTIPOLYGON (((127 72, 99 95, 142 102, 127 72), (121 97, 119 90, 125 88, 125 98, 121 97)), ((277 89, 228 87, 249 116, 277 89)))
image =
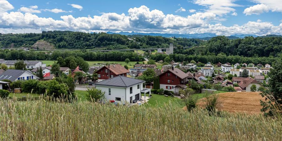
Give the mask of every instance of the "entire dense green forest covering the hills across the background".
POLYGON ((31 47, 38 40, 50 42, 57 49, 139 49, 165 48, 173 43, 176 54, 228 55, 245 57, 278 56, 282 51, 282 36, 266 35, 262 37, 245 37, 229 39, 225 36, 201 39, 165 38, 145 35, 120 35, 106 33, 83 33, 71 31, 43 31, 41 34, 0 34, 0 47, 31 47), (183 50, 187 46, 200 46, 183 50))

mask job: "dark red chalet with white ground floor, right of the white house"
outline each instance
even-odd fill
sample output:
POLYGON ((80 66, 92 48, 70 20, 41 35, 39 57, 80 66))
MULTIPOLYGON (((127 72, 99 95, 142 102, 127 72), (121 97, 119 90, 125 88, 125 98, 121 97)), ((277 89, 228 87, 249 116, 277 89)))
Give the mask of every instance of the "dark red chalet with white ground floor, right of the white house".
POLYGON ((178 93, 180 89, 186 89, 189 80, 189 74, 186 74, 178 68, 172 67, 159 75, 159 86, 164 90, 178 93))

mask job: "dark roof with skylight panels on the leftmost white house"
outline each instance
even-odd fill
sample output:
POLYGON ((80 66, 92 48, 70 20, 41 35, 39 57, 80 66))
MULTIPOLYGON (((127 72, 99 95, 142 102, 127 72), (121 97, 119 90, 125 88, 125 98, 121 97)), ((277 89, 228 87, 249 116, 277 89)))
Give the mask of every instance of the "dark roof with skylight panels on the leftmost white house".
POLYGON ((29 72, 32 74, 30 70, 6 70, 0 75, 0 81, 4 79, 14 81, 18 79, 18 77, 21 76, 24 72, 29 72))

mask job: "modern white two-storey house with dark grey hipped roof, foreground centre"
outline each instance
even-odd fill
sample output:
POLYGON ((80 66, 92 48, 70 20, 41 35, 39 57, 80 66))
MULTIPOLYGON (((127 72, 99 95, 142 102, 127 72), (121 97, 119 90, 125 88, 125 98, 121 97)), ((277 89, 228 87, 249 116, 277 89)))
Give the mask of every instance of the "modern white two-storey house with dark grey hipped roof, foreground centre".
POLYGON ((136 103, 141 99, 141 92, 149 92, 149 94, 151 94, 151 89, 143 88, 144 82, 145 81, 139 79, 116 76, 97 82, 95 86, 96 89, 101 89, 105 92, 105 98, 109 101, 136 103))

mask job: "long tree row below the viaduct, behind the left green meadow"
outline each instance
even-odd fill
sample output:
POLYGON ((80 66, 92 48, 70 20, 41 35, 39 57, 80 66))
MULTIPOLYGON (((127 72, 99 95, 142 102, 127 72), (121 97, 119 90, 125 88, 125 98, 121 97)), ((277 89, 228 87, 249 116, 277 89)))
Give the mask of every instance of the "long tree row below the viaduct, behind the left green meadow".
POLYGON ((24 51, 24 50, 0 50, 0 58, 5 60, 57 60, 58 57, 66 58, 68 56, 81 57, 84 60, 101 61, 124 61, 126 58, 131 61, 144 61, 142 55, 133 51, 110 51, 110 52, 91 52, 86 50, 76 51, 24 51))

